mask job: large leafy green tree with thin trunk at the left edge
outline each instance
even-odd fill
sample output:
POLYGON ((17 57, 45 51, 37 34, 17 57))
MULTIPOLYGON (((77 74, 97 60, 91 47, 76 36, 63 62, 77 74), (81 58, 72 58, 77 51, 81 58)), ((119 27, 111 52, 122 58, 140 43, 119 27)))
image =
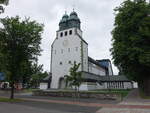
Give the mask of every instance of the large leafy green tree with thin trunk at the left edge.
MULTIPOLYGON (((11 96, 14 98, 14 84, 22 80, 22 65, 30 65, 40 55, 41 34, 43 25, 29 18, 21 20, 18 16, 6 17, 0 22, 0 52, 7 59, 3 62, 3 72, 7 72, 11 84, 11 96)), ((2 62, 2 61, 1 61, 2 62)))

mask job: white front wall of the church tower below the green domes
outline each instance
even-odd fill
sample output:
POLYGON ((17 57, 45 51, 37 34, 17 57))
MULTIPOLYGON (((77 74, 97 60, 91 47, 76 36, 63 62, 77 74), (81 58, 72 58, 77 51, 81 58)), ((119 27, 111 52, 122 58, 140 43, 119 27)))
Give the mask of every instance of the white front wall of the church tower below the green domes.
MULTIPOLYGON (((81 63, 81 39, 75 35, 75 29, 59 31, 57 36, 52 45, 52 88, 58 88, 60 77, 69 75, 69 69, 74 61, 81 63), (72 30, 72 35, 69 35, 70 30, 72 30), (61 33, 65 34, 66 31, 67 36, 61 37, 61 33)), ((81 66, 79 71, 81 71, 81 66)))

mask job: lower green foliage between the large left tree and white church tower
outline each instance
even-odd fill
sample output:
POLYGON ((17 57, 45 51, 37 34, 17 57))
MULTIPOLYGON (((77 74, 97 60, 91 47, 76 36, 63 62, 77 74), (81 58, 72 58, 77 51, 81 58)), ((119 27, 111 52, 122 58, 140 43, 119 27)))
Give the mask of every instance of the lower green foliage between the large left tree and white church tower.
POLYGON ((23 63, 21 67, 23 88, 38 88, 40 82, 49 75, 47 71, 43 72, 43 65, 37 63, 23 63))

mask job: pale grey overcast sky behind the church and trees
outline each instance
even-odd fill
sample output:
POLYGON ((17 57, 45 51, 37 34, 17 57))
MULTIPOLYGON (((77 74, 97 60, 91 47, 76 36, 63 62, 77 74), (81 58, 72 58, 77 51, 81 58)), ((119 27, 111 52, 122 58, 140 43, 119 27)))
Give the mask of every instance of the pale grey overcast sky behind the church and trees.
MULTIPOLYGON (((113 9, 124 0, 10 0, 5 13, 0 17, 31 17, 43 23, 42 56, 39 63, 44 70, 50 70, 51 44, 56 38, 58 24, 67 10, 72 12, 73 6, 81 20, 83 38, 88 42, 89 56, 94 59, 111 59, 111 31, 114 24, 113 9)), ((113 66, 114 73, 118 70, 113 66)))

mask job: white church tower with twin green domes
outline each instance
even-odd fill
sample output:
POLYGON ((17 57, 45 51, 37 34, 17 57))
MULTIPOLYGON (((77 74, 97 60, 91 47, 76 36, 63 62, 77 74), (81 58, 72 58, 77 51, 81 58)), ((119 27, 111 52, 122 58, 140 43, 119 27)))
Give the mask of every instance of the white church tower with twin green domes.
POLYGON ((80 63, 78 71, 88 71, 88 44, 82 38, 78 14, 66 13, 59 22, 59 30, 51 45, 51 88, 65 88, 64 76, 69 75, 73 63, 80 63))

